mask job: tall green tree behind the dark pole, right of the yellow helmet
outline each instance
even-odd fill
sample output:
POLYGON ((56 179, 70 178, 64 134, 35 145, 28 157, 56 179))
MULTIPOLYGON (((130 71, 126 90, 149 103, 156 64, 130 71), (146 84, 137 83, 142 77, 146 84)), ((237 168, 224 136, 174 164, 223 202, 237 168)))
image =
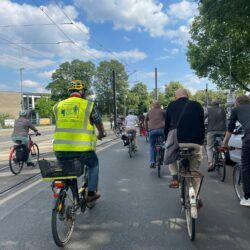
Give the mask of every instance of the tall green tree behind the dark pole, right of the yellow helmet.
POLYGON ((99 110, 105 114, 113 112, 113 70, 115 71, 118 113, 123 113, 124 99, 128 90, 128 75, 124 65, 117 60, 100 62, 96 70, 94 91, 99 110))

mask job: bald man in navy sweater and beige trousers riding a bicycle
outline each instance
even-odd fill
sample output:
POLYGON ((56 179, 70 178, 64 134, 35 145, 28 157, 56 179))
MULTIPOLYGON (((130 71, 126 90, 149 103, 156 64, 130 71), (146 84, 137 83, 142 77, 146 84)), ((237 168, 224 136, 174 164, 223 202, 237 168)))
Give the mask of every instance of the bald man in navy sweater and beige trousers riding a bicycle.
MULTIPOLYGON (((202 145, 205 134, 204 111, 198 102, 188 100, 188 92, 185 89, 178 89, 175 93, 175 99, 166 109, 165 138, 167 138, 169 130, 176 128, 180 115, 184 112, 177 128, 177 138, 180 147, 194 149, 190 159, 190 169, 198 170, 202 161, 202 145)), ((169 164, 169 170, 172 175, 169 187, 178 188, 177 162, 169 164)), ((196 179, 194 180, 193 185, 197 192, 199 183, 196 179)))

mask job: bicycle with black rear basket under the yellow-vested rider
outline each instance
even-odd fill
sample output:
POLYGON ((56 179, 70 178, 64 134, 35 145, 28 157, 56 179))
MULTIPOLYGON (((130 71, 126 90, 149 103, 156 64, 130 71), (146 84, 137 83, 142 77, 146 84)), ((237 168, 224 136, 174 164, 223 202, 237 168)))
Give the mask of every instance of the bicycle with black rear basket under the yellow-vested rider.
POLYGON ((55 199, 51 229, 56 245, 63 247, 73 234, 78 210, 84 213, 86 208, 92 209, 95 206, 95 201, 87 202, 88 167, 82 167, 78 158, 58 163, 41 160, 39 167, 42 179, 52 181, 51 189, 55 199), (81 175, 82 187, 78 189, 77 177, 81 175))

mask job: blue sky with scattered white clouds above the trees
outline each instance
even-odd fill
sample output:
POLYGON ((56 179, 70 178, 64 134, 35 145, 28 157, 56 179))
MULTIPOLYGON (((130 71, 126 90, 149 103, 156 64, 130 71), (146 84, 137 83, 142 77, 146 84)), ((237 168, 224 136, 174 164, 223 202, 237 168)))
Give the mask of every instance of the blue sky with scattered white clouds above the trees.
POLYGON ((186 59, 196 14, 192 0, 1 0, 0 91, 20 91, 24 68, 23 90, 44 92, 60 63, 76 58, 96 65, 120 59, 128 73, 136 70, 130 86, 142 81, 152 90, 157 67, 160 88, 178 80, 192 92, 204 89, 209 81, 198 79, 186 59), (67 16, 75 25, 65 24, 67 16), (61 30, 40 25, 51 19, 61 30))

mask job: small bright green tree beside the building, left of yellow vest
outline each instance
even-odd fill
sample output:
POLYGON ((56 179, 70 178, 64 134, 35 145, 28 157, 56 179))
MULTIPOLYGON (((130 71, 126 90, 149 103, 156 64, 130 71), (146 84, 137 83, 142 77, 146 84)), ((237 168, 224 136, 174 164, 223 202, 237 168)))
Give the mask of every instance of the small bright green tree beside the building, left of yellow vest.
POLYGON ((36 110, 41 118, 50 118, 53 116, 53 106, 55 101, 50 99, 50 96, 41 97, 36 103, 36 110))

